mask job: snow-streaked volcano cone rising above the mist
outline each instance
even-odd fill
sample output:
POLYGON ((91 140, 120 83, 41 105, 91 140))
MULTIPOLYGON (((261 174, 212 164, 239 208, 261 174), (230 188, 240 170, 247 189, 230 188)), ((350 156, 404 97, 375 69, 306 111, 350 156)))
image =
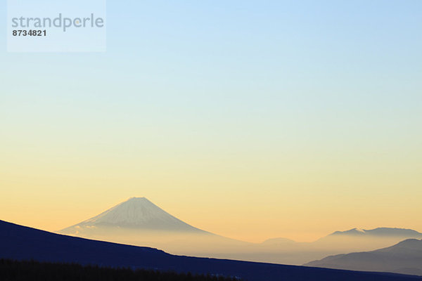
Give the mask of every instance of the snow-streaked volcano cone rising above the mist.
POLYGON ((98 216, 60 230, 59 233, 77 235, 100 229, 206 233, 168 214, 145 197, 132 197, 98 216))

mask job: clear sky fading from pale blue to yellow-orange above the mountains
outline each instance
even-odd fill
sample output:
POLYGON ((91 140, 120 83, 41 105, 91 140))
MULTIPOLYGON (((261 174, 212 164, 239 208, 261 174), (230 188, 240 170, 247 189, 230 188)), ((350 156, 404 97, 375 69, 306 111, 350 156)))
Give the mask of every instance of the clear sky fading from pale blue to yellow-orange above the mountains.
POLYGON ((0 21, 0 219, 59 230, 144 196, 252 242, 422 231, 421 15, 108 1, 106 53, 6 53, 0 21))

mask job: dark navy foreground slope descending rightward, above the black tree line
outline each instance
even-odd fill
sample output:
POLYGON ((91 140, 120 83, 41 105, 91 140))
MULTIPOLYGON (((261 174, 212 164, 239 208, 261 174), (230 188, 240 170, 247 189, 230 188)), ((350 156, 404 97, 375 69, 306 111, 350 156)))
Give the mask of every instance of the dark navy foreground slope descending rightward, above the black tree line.
POLYGON ((422 277, 394 273, 283 266, 221 259, 174 256, 158 249, 87 240, 0 221, 0 259, 79 263, 112 267, 172 270, 179 273, 210 273, 261 280, 411 281, 422 277))

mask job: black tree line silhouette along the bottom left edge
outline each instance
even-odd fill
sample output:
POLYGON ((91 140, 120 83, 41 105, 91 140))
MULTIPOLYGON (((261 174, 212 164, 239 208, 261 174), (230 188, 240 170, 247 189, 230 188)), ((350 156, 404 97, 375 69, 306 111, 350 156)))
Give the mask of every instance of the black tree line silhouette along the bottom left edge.
POLYGON ((41 263, 0 259, 2 281, 239 281, 236 277, 194 275, 191 273, 160 272, 81 266, 77 263, 41 263))

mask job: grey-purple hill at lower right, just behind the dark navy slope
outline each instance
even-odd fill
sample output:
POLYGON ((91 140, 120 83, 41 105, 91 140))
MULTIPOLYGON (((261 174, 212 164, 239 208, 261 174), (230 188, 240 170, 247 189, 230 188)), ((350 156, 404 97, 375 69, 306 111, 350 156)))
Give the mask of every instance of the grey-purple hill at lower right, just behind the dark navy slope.
POLYGON ((305 266, 422 275, 422 240, 408 239, 376 251, 328 256, 305 266))

